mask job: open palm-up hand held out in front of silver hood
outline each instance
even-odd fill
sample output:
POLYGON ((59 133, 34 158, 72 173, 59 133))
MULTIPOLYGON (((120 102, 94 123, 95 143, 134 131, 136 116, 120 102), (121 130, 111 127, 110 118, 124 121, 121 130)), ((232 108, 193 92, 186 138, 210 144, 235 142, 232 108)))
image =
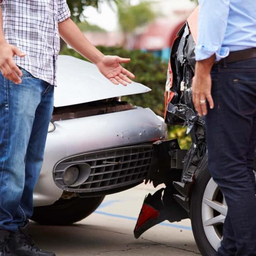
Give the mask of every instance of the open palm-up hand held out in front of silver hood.
POLYGON ((96 65, 99 71, 113 84, 120 83, 126 86, 127 83, 131 83, 131 79, 134 79, 135 76, 133 73, 123 68, 120 64, 128 63, 129 61, 131 61, 129 58, 106 55, 96 65))

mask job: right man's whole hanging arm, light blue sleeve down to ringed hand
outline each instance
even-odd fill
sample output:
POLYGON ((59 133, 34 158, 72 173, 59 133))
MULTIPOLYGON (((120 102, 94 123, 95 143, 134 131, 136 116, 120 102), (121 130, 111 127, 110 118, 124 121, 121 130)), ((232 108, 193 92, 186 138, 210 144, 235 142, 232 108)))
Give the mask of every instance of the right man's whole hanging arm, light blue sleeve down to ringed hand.
POLYGON ((212 79, 210 71, 215 60, 229 55, 229 49, 222 47, 227 29, 230 0, 199 0, 198 44, 196 47, 196 68, 193 78, 193 102, 199 116, 207 114, 206 100, 214 108, 211 96, 212 79))

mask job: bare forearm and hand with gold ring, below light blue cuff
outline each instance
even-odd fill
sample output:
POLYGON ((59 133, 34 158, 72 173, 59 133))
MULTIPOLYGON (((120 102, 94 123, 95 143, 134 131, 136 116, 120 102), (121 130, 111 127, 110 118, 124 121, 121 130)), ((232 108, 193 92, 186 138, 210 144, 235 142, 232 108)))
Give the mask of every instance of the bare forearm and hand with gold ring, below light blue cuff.
POLYGON ((207 101, 210 108, 214 108, 212 100, 212 78, 210 71, 215 61, 215 55, 212 57, 198 61, 195 67, 195 76, 192 81, 193 102, 198 115, 207 115, 207 101))

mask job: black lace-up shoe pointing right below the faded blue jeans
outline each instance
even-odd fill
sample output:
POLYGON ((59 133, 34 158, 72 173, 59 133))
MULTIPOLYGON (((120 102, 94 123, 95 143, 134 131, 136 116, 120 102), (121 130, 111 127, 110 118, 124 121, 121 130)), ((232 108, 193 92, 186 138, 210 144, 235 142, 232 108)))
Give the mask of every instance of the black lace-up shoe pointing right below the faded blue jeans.
POLYGON ((27 233, 26 227, 20 228, 19 232, 10 236, 10 248, 19 256, 55 256, 55 253, 42 251, 36 247, 34 240, 27 233))

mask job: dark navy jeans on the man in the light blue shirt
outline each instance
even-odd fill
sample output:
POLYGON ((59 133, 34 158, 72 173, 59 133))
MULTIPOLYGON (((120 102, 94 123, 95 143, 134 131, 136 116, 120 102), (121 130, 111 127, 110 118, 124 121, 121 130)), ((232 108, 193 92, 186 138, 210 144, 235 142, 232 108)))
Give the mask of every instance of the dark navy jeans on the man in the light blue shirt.
POLYGON ((256 58, 212 68, 206 116, 209 171, 228 212, 218 256, 256 256, 256 58))

